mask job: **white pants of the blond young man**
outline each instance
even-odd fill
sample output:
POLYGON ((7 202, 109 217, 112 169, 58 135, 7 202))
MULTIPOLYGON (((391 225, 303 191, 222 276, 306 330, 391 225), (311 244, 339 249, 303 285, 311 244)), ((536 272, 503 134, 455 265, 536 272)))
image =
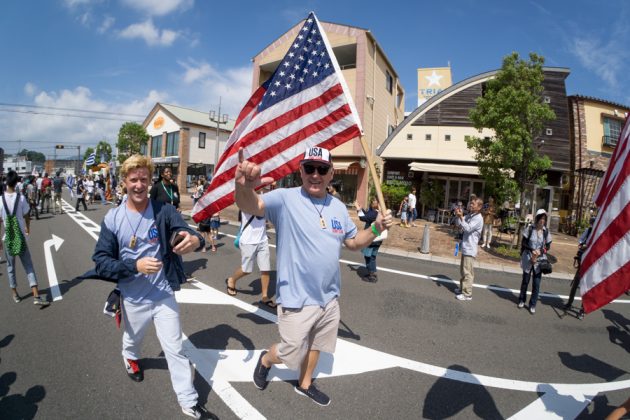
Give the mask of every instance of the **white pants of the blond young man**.
POLYGON ((171 375, 173 390, 182 407, 197 404, 197 391, 193 386, 190 362, 182 348, 182 327, 179 322, 179 307, 175 296, 159 302, 123 303, 125 331, 123 333, 122 355, 125 359, 140 359, 142 339, 150 325, 155 325, 155 332, 166 356, 168 371, 171 375))

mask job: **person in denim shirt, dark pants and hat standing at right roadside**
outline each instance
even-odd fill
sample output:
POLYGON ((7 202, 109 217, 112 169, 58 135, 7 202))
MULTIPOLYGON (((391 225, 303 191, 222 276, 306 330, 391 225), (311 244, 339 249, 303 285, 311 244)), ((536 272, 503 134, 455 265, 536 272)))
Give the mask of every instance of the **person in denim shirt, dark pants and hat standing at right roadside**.
POLYGON ((551 234, 546 224, 547 212, 543 209, 539 209, 536 212, 534 224, 530 224, 523 230, 523 242, 521 246, 523 281, 521 282, 521 293, 518 297, 518 308, 521 309, 525 307, 529 280, 533 278, 532 295, 529 298, 529 312, 532 315, 536 313, 540 280, 543 274, 541 271, 541 262, 547 260, 547 251, 551 248, 551 234))

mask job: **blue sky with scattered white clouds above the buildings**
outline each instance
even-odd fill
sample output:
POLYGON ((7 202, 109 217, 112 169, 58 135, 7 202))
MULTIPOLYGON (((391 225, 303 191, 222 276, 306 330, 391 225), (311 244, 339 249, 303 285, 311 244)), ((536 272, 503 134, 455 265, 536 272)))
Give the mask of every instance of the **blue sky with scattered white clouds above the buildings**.
POLYGON ((407 111, 418 67, 450 62, 456 83, 499 68, 512 51, 568 67, 570 95, 630 105, 625 0, 14 0, 0 8, 0 147, 52 156, 55 143, 115 144, 120 118, 141 121, 158 101, 208 111, 221 96, 235 118, 251 58, 311 10, 374 34, 407 111), (55 113, 110 119, 46 115, 55 113))

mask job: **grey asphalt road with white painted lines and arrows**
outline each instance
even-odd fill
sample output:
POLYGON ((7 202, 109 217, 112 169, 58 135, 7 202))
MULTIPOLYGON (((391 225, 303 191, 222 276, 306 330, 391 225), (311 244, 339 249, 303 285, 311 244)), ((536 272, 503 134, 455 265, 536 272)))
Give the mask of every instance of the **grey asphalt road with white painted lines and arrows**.
MULTIPOLYGON (((40 288, 58 298, 50 307, 15 304, 0 264, 0 418, 185 418, 154 330, 144 341, 145 380, 132 382, 121 331, 102 314, 112 284, 75 280, 92 268, 108 207, 33 222, 40 288), (53 235, 63 239, 58 249, 46 242, 53 235)), ((275 318, 257 305, 256 273, 239 281, 236 298, 225 293, 240 254, 236 228, 221 230, 216 254, 186 256, 194 280, 177 295, 200 400, 219 418, 603 418, 630 395, 627 299, 579 321, 560 310, 568 282, 543 279, 531 315, 516 307, 518 275, 477 270, 473 300, 459 302, 457 266, 381 253, 378 283, 365 283, 361 254, 347 250, 337 351, 322 355, 317 372, 330 406, 293 392, 295 373, 283 367, 259 391, 251 373, 278 340, 275 318)), ((27 289, 20 266, 18 290, 27 289)))

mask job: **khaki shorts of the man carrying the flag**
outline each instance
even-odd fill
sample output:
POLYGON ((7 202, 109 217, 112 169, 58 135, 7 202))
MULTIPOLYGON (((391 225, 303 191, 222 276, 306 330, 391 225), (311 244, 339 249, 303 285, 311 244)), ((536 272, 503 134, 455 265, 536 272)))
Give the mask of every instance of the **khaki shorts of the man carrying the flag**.
POLYGON ((337 298, 325 308, 309 305, 293 309, 278 305, 278 357, 289 369, 299 370, 309 350, 334 353, 340 320, 337 298))

